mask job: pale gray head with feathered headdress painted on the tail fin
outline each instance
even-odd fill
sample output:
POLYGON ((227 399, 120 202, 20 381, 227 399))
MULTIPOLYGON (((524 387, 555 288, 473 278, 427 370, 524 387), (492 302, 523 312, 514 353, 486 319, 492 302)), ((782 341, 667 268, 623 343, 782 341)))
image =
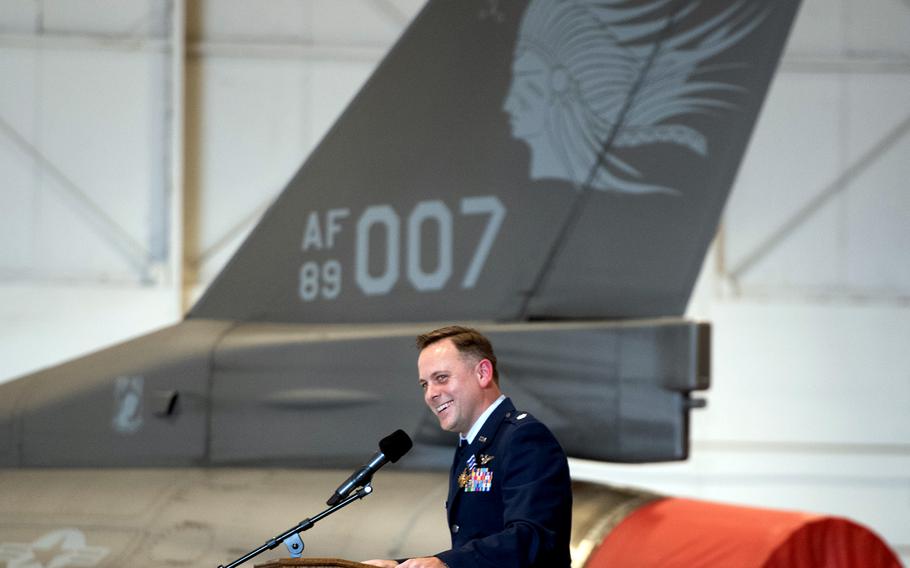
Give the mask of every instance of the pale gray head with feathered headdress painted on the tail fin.
POLYGON ((512 135, 531 149, 531 179, 577 189, 678 194, 611 149, 674 144, 707 157, 704 134, 681 117, 734 110, 737 85, 710 60, 767 15, 734 2, 705 21, 701 2, 532 0, 519 29, 504 102, 512 135), (673 7, 677 10, 672 10, 673 7))

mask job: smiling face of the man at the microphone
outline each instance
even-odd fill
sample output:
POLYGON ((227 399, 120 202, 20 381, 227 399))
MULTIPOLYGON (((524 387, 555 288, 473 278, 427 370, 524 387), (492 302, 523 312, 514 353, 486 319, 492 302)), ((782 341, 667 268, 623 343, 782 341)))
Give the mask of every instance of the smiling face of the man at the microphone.
POLYGON ((479 366, 480 362, 462 355, 450 339, 420 352, 417 371, 423 400, 443 430, 466 434, 486 409, 479 366))

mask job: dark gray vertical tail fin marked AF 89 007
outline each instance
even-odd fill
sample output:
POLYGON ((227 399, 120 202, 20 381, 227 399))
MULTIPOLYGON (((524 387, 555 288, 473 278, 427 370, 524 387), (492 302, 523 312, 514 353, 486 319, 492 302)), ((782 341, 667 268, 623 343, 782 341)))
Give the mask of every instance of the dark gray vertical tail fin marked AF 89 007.
POLYGON ((798 0, 433 0, 190 313, 679 315, 798 0))

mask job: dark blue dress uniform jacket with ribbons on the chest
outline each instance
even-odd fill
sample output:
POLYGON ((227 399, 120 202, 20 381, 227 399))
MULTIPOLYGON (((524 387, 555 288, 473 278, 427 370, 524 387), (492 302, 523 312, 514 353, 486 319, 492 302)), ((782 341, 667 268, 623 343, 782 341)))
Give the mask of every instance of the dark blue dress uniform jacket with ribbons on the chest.
POLYGON ((572 486, 550 430, 507 398, 455 454, 446 501, 449 568, 568 568, 572 486), (459 483, 461 478, 461 483, 459 483))

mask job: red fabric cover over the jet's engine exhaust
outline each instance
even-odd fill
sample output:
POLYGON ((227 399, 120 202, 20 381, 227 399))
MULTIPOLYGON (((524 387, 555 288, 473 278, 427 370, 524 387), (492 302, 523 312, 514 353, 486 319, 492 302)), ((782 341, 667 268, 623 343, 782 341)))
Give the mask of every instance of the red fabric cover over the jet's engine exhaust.
POLYGON ((585 568, 900 568, 870 530, 847 519, 666 498, 623 520, 585 568))

